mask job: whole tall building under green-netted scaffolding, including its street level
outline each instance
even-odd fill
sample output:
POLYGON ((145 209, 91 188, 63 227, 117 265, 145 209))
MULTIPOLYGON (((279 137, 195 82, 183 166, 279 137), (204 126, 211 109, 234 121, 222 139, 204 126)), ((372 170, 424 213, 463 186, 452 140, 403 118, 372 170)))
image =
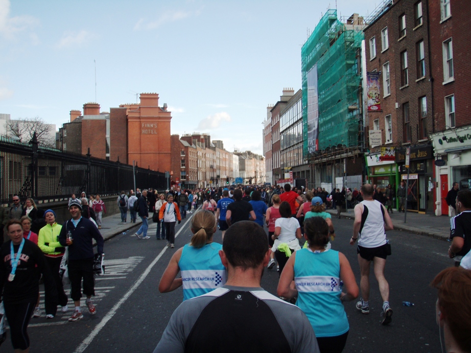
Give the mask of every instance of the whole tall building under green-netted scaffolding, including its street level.
POLYGON ((358 14, 342 22, 337 10, 328 10, 302 46, 303 155, 313 167, 310 186, 330 191, 362 182, 364 27, 358 14))

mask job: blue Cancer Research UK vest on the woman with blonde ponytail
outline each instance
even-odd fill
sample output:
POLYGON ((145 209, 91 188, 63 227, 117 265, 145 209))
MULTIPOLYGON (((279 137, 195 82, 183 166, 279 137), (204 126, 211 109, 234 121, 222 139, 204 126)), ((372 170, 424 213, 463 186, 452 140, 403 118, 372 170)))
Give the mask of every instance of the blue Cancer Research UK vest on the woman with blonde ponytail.
POLYGON ((224 286, 226 269, 221 263, 222 245, 209 243, 201 248, 186 244, 181 252, 178 267, 183 281, 183 301, 224 286))

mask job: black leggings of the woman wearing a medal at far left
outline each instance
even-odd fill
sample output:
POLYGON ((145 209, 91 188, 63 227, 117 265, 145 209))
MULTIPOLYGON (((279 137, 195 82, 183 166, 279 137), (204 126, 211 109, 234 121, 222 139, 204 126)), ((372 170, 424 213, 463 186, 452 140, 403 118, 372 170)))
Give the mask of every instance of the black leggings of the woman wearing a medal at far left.
POLYGON ((10 325, 10 336, 13 349, 25 350, 30 346, 26 329, 36 306, 37 297, 29 303, 5 303, 5 315, 10 325))

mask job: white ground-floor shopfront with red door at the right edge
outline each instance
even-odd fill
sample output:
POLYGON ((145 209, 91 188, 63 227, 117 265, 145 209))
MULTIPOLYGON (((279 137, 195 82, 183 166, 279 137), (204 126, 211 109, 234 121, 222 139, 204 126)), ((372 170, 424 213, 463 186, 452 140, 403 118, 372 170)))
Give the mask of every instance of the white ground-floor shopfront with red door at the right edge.
POLYGON ((445 202, 454 182, 460 190, 471 188, 471 126, 445 130, 431 135, 435 152, 436 189, 435 214, 449 215, 445 202))

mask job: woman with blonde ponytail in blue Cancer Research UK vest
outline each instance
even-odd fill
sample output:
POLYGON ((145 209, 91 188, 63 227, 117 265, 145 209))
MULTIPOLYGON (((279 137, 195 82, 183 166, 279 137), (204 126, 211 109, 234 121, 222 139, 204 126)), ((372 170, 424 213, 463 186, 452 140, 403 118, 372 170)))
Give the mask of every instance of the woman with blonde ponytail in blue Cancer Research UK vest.
POLYGON ((159 292, 167 293, 183 286, 183 300, 208 293, 226 283, 226 269, 213 243, 216 220, 210 211, 199 210, 192 218, 193 237, 190 244, 178 249, 162 274, 159 292), (181 278, 176 278, 178 272, 181 278))

